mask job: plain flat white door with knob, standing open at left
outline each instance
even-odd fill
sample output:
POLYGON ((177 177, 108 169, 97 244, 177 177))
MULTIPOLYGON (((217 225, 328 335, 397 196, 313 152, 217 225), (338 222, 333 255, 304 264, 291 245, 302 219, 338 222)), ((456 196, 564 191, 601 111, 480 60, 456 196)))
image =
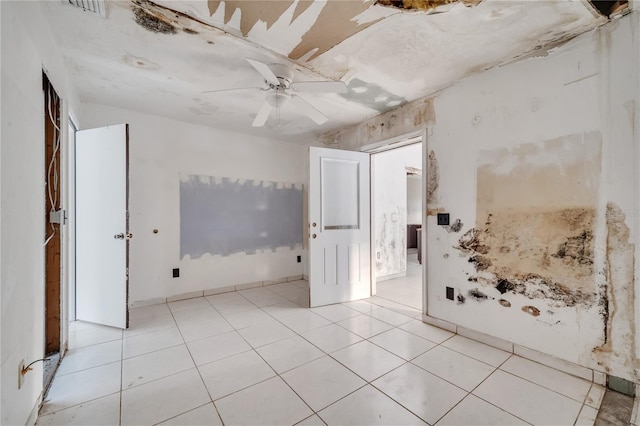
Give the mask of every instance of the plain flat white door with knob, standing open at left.
POLYGON ((76 318, 127 327, 128 127, 76 133, 76 318))

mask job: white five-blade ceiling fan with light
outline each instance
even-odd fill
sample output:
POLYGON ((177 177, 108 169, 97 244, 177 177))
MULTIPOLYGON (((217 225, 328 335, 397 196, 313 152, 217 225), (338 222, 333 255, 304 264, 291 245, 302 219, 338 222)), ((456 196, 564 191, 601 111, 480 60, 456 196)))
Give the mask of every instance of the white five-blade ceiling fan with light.
POLYGON ((296 92, 307 93, 347 93, 347 86, 342 81, 293 81, 293 72, 285 65, 267 65, 255 59, 245 58, 260 73, 267 85, 263 87, 240 87, 235 89, 209 90, 202 93, 228 92, 232 90, 261 89, 267 92, 262 106, 258 110, 253 127, 262 127, 267 122, 273 109, 280 113, 280 108, 291 102, 300 112, 316 124, 324 124, 327 117, 313 105, 305 101, 296 92))

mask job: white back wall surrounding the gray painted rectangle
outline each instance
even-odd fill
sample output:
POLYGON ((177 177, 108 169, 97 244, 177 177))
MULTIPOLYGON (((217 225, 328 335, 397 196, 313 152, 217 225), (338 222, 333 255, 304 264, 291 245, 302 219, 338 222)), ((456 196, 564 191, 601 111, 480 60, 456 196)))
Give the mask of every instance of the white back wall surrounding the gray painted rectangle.
POLYGON ((78 115, 81 129, 129 124, 130 303, 303 274, 302 247, 180 259, 179 176, 301 185, 305 146, 99 105, 85 104, 78 115), (180 278, 172 278, 177 267, 180 278))

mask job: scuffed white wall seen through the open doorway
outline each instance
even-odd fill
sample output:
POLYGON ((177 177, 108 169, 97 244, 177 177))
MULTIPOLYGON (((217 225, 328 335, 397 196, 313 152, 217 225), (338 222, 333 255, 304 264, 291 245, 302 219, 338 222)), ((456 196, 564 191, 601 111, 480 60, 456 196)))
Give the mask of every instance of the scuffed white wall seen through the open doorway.
POLYGON ((371 164, 374 260, 379 279, 407 270, 406 168, 422 168, 422 144, 374 154, 371 164))

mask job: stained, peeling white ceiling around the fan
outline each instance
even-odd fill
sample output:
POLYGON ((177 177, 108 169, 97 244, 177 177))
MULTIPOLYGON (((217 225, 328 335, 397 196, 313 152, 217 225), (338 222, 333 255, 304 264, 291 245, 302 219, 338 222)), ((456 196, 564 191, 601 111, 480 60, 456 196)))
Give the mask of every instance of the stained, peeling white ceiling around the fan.
POLYGON ((305 143, 606 22, 587 0, 107 0, 106 17, 42 7, 83 102, 305 143), (246 58, 347 92, 300 94, 322 125, 288 104, 254 128, 267 85, 246 58))

